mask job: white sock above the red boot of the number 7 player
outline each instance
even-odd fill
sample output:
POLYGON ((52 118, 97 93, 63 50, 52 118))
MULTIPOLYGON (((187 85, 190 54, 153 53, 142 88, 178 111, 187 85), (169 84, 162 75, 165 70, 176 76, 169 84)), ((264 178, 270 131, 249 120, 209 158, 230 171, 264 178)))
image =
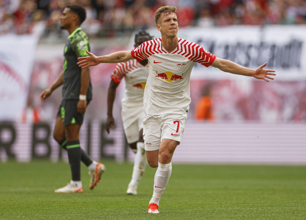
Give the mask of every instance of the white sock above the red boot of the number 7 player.
MULTIPOLYGON (((165 191, 172 171, 171 162, 169 164, 161 164, 158 162, 158 168, 154 177, 154 190, 150 203, 159 205, 162 193, 165 191)), ((149 204, 150 204, 149 203, 149 204)))

